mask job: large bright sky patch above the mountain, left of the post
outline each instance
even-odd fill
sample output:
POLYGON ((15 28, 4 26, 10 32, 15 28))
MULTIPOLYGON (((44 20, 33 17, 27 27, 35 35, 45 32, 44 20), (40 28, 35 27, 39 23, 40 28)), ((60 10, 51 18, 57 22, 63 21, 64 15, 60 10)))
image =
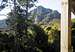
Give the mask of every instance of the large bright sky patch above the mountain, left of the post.
POLYGON ((46 8, 58 10, 61 12, 61 1, 60 0, 39 0, 37 5, 42 5, 46 8))

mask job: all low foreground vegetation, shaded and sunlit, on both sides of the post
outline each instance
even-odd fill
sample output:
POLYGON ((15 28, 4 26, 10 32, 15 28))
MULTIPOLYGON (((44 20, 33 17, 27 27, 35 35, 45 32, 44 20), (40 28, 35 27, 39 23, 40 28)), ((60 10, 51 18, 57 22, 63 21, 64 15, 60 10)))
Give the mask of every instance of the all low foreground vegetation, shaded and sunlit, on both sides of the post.
MULTIPOLYGON (((59 21, 50 25, 29 24, 27 32, 18 29, 12 32, 0 32, 0 52, 59 52, 59 21)), ((72 46, 75 49, 75 22, 72 21, 72 46)))

